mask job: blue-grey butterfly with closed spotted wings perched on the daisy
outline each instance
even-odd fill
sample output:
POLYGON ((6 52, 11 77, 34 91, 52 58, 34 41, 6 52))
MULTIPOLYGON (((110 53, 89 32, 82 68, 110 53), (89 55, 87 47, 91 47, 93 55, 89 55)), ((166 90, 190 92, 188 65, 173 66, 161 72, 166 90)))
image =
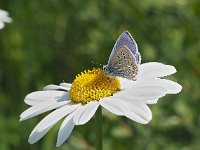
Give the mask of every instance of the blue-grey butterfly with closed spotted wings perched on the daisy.
POLYGON ((141 55, 137 43, 128 31, 124 31, 117 39, 103 70, 111 76, 136 80, 140 63, 141 55))

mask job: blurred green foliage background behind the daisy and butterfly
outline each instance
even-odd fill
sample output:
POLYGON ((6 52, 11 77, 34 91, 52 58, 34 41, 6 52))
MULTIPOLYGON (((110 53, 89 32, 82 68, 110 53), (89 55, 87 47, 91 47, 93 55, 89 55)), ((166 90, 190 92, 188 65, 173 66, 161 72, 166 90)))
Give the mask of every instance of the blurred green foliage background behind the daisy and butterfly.
MULTIPOLYGON (((200 149, 199 0, 1 0, 13 18, 0 30, 0 150, 54 150, 59 122, 34 145, 27 140, 48 113, 19 122, 24 97, 47 84, 72 82, 84 69, 106 64, 117 37, 128 30, 142 62, 174 65, 183 86, 151 105, 141 125, 104 110, 104 150, 200 149)), ((94 119, 77 126, 59 150, 94 150, 94 119)))

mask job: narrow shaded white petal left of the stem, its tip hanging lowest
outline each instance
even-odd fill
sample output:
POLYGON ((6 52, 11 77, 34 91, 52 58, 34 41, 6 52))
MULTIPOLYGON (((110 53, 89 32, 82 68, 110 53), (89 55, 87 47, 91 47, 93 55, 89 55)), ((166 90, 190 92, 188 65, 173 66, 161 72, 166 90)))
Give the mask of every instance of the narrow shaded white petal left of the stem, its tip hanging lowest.
POLYGON ((74 128, 73 115, 74 113, 69 114, 63 121, 58 132, 56 147, 60 147, 71 134, 74 128))

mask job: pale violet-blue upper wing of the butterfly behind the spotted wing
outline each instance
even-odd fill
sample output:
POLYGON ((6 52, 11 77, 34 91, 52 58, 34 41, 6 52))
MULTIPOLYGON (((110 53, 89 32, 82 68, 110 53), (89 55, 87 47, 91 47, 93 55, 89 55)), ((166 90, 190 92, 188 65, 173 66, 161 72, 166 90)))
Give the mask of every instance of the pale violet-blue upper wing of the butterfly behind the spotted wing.
POLYGON ((133 39, 133 37, 131 36, 131 34, 128 31, 124 31, 117 39, 117 41, 112 49, 109 60, 110 60, 111 56, 114 53, 116 53, 116 51, 118 51, 118 49, 120 49, 124 45, 127 46, 130 49, 130 51, 132 52, 132 54, 135 56, 136 63, 140 64, 141 57, 140 57, 140 53, 138 52, 137 43, 135 42, 135 40, 133 39))

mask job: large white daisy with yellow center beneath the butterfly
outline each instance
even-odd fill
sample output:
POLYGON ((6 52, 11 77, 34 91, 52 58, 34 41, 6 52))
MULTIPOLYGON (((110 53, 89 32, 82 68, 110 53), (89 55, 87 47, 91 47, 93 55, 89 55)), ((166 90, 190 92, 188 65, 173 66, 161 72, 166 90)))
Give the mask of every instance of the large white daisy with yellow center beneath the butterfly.
POLYGON ((75 125, 87 123, 102 106, 113 114, 125 116, 135 122, 147 124, 152 113, 147 104, 155 104, 166 94, 176 94, 182 89, 176 82, 161 79, 176 69, 157 62, 141 64, 137 80, 108 76, 101 69, 84 71, 72 84, 47 85, 25 97, 31 107, 20 116, 27 120, 54 110, 33 129, 29 143, 40 140, 59 120, 65 118, 58 132, 56 146, 61 146, 75 125))

